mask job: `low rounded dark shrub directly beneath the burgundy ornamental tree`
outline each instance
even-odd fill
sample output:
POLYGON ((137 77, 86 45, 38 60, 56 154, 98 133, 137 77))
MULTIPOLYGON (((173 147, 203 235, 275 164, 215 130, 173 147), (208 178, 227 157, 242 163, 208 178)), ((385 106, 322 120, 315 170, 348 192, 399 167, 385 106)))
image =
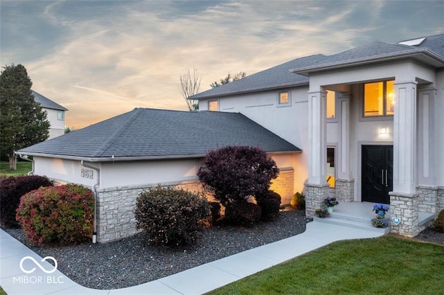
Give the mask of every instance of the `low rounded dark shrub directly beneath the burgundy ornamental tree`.
POLYGON ((229 224, 251 226, 261 220, 261 207, 249 202, 238 202, 225 207, 225 221, 229 224))

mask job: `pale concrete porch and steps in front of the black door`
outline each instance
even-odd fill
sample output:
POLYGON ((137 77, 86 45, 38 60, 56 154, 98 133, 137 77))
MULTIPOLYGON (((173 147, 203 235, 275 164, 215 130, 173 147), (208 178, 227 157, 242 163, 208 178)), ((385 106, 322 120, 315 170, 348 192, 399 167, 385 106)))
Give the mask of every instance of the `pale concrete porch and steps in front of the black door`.
MULTIPOLYGON (((324 218, 313 217, 313 220, 318 222, 325 222, 329 224, 339 224, 355 229, 367 229, 370 231, 377 231, 384 235, 390 233, 391 227, 395 226, 391 220, 390 211, 386 213, 386 219, 389 226, 384 229, 374 227, 370 220, 375 217, 373 212, 374 203, 371 202, 340 202, 338 206, 334 206, 333 213, 330 213, 324 218)), ((390 205, 388 205, 390 207, 390 205)), ((419 212, 419 228, 423 231, 431 220, 434 220, 433 213, 419 212)))

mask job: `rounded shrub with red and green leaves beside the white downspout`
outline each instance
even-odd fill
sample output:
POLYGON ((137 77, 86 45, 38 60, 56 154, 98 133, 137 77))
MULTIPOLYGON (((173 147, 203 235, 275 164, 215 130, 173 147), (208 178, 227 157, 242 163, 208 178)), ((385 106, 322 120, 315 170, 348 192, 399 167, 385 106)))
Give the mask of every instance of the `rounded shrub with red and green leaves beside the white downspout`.
POLYGON ((49 186, 27 193, 17 222, 35 244, 74 244, 92 234, 94 196, 83 186, 49 186))

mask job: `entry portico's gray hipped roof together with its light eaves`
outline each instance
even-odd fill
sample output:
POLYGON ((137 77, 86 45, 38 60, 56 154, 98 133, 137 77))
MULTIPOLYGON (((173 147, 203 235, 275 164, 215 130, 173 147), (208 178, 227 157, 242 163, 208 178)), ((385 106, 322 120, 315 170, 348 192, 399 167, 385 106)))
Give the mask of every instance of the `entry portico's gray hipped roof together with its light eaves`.
MULTIPOLYGON (((344 66, 366 64, 398 59, 399 57, 413 57, 433 66, 444 66, 444 34, 424 38, 418 45, 388 44, 372 42, 363 46, 352 48, 323 60, 318 60, 307 66, 299 66, 291 71, 302 75, 325 69, 338 69, 344 66)), ((418 39, 422 39, 418 38, 418 39)))

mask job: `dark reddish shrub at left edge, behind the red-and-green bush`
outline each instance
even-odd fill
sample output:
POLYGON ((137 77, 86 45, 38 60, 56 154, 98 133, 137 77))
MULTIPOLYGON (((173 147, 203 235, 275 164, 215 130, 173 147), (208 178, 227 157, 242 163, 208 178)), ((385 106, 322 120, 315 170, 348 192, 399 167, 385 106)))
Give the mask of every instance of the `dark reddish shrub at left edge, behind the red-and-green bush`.
POLYGON ((41 186, 52 186, 47 177, 38 175, 8 177, 0 180, 0 222, 7 227, 19 227, 15 213, 22 195, 41 186))

